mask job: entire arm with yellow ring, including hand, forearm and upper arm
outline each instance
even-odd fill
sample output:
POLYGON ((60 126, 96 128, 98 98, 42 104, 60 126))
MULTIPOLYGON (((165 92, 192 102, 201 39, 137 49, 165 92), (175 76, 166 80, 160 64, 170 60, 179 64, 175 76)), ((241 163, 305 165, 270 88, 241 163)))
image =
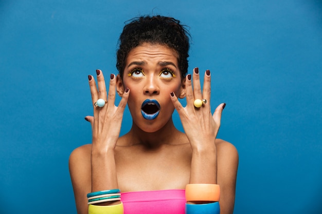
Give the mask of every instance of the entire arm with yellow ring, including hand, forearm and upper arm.
POLYGON ((172 96, 172 102, 180 115, 192 149, 190 183, 219 184, 221 213, 231 213, 235 201, 238 154, 234 146, 216 139, 225 104, 220 104, 211 115, 210 71, 205 72, 202 92, 199 69, 195 68, 193 72, 193 89, 189 75, 186 77, 187 106, 182 107, 175 96, 172 96), (201 108, 195 108, 195 99, 206 99, 207 103, 201 108))

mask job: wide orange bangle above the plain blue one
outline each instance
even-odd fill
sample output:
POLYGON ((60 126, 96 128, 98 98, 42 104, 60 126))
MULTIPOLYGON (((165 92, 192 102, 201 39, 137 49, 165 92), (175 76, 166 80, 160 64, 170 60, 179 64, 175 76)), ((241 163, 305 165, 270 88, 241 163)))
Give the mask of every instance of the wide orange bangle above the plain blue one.
POLYGON ((218 184, 187 184, 186 201, 213 201, 220 198, 220 187, 218 184))

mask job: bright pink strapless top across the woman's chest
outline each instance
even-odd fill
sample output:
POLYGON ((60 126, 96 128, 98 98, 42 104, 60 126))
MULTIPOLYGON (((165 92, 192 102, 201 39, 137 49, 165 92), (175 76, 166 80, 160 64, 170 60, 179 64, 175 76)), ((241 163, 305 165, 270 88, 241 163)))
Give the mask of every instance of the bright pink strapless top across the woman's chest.
POLYGON ((124 214, 185 214, 185 190, 169 189, 121 193, 124 214))

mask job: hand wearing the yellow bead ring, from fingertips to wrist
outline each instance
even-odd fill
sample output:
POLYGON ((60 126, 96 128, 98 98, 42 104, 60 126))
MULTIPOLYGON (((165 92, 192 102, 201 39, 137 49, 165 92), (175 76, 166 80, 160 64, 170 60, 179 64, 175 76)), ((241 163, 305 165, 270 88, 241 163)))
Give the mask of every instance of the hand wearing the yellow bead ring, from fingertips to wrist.
POLYGON ((186 76, 186 100, 187 106, 183 107, 173 93, 171 100, 176 108, 183 128, 191 144, 192 149, 207 149, 214 146, 214 140, 220 127, 221 113, 225 104, 220 104, 213 115, 210 108, 210 71, 205 72, 204 86, 201 90, 199 69, 194 68, 192 75, 193 88, 191 83, 191 74, 186 76), (205 100, 200 108, 194 106, 196 99, 205 100))

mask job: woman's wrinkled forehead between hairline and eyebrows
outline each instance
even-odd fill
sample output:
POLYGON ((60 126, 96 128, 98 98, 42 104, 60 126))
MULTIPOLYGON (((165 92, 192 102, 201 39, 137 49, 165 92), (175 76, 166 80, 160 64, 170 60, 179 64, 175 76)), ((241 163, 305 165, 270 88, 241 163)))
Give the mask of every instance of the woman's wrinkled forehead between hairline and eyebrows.
POLYGON ((160 64, 160 62, 172 62, 177 67, 177 52, 166 45, 142 44, 133 48, 127 57, 126 66, 133 61, 144 64, 160 64))

